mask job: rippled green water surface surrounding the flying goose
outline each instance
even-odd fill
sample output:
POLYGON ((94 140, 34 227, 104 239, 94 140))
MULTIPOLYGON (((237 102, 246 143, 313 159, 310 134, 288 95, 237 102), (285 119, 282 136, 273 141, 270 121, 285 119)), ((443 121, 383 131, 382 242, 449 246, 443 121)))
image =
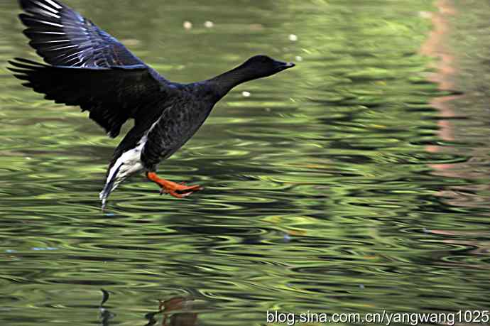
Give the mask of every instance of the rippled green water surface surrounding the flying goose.
POLYGON ((454 2, 452 98, 421 52, 432 1, 67 0, 170 80, 298 63, 234 89, 160 165, 205 191, 136 176, 101 212, 120 138, 11 77, 36 55, 1 1, 0 325, 161 325, 175 297, 168 325, 488 309, 490 11, 454 2))

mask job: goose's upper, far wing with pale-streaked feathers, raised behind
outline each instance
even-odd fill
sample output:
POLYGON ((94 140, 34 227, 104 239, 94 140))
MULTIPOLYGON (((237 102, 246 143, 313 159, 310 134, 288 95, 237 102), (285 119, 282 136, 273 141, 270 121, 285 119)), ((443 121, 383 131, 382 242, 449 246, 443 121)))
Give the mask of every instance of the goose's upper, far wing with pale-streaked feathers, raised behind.
POLYGON ((92 21, 57 0, 19 0, 24 34, 50 65, 111 67, 141 65, 128 49, 92 21))

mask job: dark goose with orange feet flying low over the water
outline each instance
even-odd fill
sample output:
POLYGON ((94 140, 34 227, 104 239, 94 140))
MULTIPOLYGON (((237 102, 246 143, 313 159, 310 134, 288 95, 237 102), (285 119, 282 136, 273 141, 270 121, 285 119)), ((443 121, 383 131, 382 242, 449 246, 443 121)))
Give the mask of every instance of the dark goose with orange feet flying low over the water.
POLYGON ((45 99, 74 105, 110 137, 134 119, 119 143, 100 193, 102 206, 119 183, 141 171, 161 193, 186 197, 202 190, 160 179, 158 163, 183 146, 204 123, 214 104, 233 87, 294 67, 256 55, 239 67, 202 82, 170 82, 136 58, 116 38, 57 0, 19 0, 23 33, 46 64, 16 58, 9 70, 45 99))

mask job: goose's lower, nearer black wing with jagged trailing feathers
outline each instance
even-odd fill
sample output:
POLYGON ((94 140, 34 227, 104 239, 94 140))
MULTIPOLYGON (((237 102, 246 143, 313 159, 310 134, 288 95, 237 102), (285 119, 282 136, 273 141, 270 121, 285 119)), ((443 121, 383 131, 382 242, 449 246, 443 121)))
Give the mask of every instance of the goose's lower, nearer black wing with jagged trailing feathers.
MULTIPOLYGON (((54 67, 16 58, 8 69, 23 85, 45 94, 56 103, 77 105, 111 137, 119 134, 138 110, 156 105, 165 97, 165 85, 146 65, 119 67, 54 67)), ((144 114, 144 113, 143 113, 144 114)))

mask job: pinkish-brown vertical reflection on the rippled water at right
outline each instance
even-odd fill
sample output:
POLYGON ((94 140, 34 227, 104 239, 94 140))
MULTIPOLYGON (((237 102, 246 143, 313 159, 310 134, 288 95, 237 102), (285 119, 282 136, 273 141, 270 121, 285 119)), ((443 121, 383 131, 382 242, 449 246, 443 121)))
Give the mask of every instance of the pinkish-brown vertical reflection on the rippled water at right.
MULTIPOLYGON (((439 89, 443 91, 453 91, 457 88, 455 82, 459 78, 459 72, 463 72, 462 70, 465 69, 464 67, 459 67, 459 69, 457 67, 457 58, 461 57, 462 53, 457 53, 453 48, 447 46, 450 36, 454 35, 450 20, 457 17, 459 13, 455 9, 452 0, 437 0, 435 6, 438 9, 437 13, 427 13, 432 20, 433 30, 428 40, 420 48, 420 53, 439 59, 436 65, 437 71, 430 75, 429 80, 437 82, 439 89)), ((457 116, 457 113, 452 109, 452 107, 457 105, 454 100, 462 97, 464 96, 437 97, 430 102, 432 107, 440 113, 441 119, 438 121, 440 127, 439 137, 443 141, 464 141, 465 132, 462 126, 454 126, 452 120, 450 120, 450 118, 457 116)), ((448 146, 427 146, 427 151, 431 153, 440 153, 448 150, 457 152, 457 148, 449 148, 448 146)), ((474 164, 478 164, 478 161, 487 160, 488 148, 473 148, 472 152, 466 153, 466 155, 472 156, 467 163, 432 164, 430 166, 440 176, 475 181, 481 180, 481 178, 488 178, 488 169, 481 166, 478 169, 474 168, 474 164)), ((441 190, 438 195, 447 198, 447 203, 452 206, 489 208, 490 198, 482 195, 483 192, 488 192, 489 189, 490 187, 487 184, 464 185, 441 190)), ((490 212, 481 212, 479 214, 487 216, 490 215, 490 212)))

